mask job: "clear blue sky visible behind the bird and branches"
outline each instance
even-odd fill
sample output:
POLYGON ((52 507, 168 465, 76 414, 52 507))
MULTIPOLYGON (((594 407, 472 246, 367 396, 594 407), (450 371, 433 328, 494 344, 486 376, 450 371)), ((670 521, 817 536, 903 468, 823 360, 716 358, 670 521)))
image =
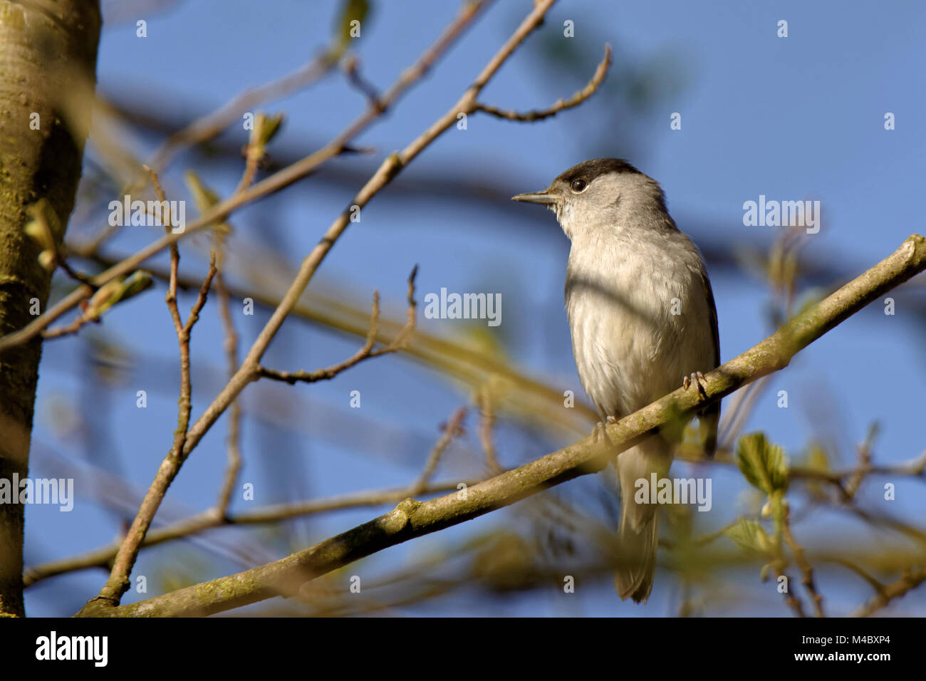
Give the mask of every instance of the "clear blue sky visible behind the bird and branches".
MULTIPOLYGON (((529 2, 496 3, 394 111, 357 139, 359 145, 375 147, 373 158, 336 158, 331 165, 372 170, 385 155, 407 145, 457 101, 530 6, 529 2)), ((200 0, 176 3, 173 9, 150 17, 144 39, 136 37, 133 24, 105 26, 97 69, 100 90, 127 105, 192 117, 303 63, 328 40, 335 8, 335 3, 304 0, 200 0)), ((120 11, 128 10, 120 7, 120 11)), ((374 3, 356 45, 365 78, 384 88, 456 11, 455 2, 374 3)), ((587 81, 605 42, 615 47, 615 69, 608 82, 614 90, 552 120, 521 124, 472 116, 466 131, 446 132, 406 170, 396 188, 403 186, 400 183, 414 188, 432 175, 458 176, 492 183, 492 196, 448 201, 397 191, 391 195, 387 188, 364 209, 362 221, 344 234, 312 287, 347 291, 360 300, 369 299, 372 289, 378 288, 386 309, 400 313, 407 273, 419 263, 419 299, 441 287, 497 291, 504 300, 503 323, 489 333, 497 334, 508 356, 526 372, 581 394, 562 302, 568 242, 552 215, 531 208, 517 213, 506 197, 540 189, 586 158, 610 156, 628 158, 656 178, 682 231, 702 245, 736 251, 768 246, 776 236, 774 228, 743 225, 743 203, 757 200, 758 195, 820 200, 822 229, 807 239, 807 255, 839 271, 862 271, 893 252, 909 233, 923 231, 919 216, 926 132, 916 116, 926 110, 926 94, 918 85, 926 69, 924 14, 926 7, 901 2, 871 6, 729 0, 710 7, 686 2, 557 3, 544 27, 501 69, 482 99, 499 107, 548 106, 587 81), (788 22, 787 38, 776 35, 780 19, 788 22), (574 21, 574 38, 562 37, 565 20, 574 21), (574 43, 557 49, 590 57, 557 64, 544 57, 543 45, 568 40, 574 43), (634 75, 651 88, 647 91, 651 95, 640 101, 625 97, 621 89, 621 77, 634 75), (669 129, 673 112, 681 113, 682 130, 669 129), (895 114, 893 131, 884 129, 886 112, 895 114)), ((335 74, 307 92, 265 108, 287 115, 273 145, 301 149, 329 139, 363 107, 362 96, 346 88, 344 79, 335 74)), ((232 133, 230 139, 244 143, 243 135, 232 133)), ((145 141, 133 148, 140 158, 152 150, 145 141)), ((93 141, 90 153, 95 153, 93 141)), ((188 161, 181 158, 164 178, 169 192, 185 194, 181 170, 188 161)), ((206 182, 223 194, 232 192, 240 169, 204 168, 206 182)), ((277 247, 294 269, 356 190, 316 178, 297 183, 282 195, 236 213, 232 243, 244 259, 261 248, 277 247)), ((96 223, 103 224, 104 218, 96 216, 96 223)), ((112 252, 136 250, 149 238, 153 237, 124 231, 112 244, 112 252)), ((188 245, 183 252, 188 271, 202 272, 202 250, 188 245)), ((756 276, 713 267, 711 272, 721 357, 730 359, 770 333, 770 295, 756 276)), ((269 278, 275 274, 267 272, 269 278)), ((115 310, 99 330, 93 330, 131 348, 136 364, 143 367, 105 395, 81 392, 79 367, 87 361, 86 341, 69 338, 46 345, 35 422, 37 447, 77 460, 78 466, 94 457, 102 457, 95 459, 97 463, 118 460, 112 463, 118 465, 116 473, 138 489, 146 488, 167 451, 176 418, 176 376, 171 373, 177 366, 176 338, 166 306, 160 302, 162 295, 160 286, 115 310), (152 386, 148 409, 137 410, 135 392, 148 389, 145 381, 152 374, 165 385, 152 386), (71 401, 94 411, 88 398, 94 400, 97 415, 105 415, 111 425, 106 439, 62 435, 56 409, 71 401)), ((188 309, 191 301, 183 302, 188 309)), ((840 325, 773 376, 746 428, 764 430, 799 456, 815 426, 833 423, 841 453, 850 457, 844 462, 849 463, 855 443, 864 438, 870 422, 878 421, 882 426, 875 448, 879 461, 919 454, 924 447, 920 422, 926 393, 922 321, 903 305, 898 305, 894 316, 884 315, 878 303, 872 308, 840 325), (782 389, 791 396, 787 410, 776 406, 775 396, 782 389)), ((194 333, 194 416, 214 396, 219 387, 217 372, 224 367, 216 350, 221 332, 214 310, 205 318, 194 333)), ((262 313, 237 320, 242 347, 249 347, 264 320, 262 313)), ((463 323, 423 317, 419 322, 437 334, 458 333, 462 328, 458 324, 463 323)), ((341 359, 357 347, 356 339, 301 323, 289 327, 270 347, 270 366, 311 368, 341 359)), ((258 502, 406 484, 426 456, 426 449, 414 447, 422 443, 428 447, 438 436, 437 424, 469 398, 459 386, 394 357, 364 364, 330 383, 269 385, 261 390, 266 392, 259 399, 248 393, 245 398, 273 397, 282 405, 280 410, 289 407, 306 413, 297 418, 303 427, 295 432, 282 432, 266 421, 245 420, 243 480, 255 482, 258 502), (352 446, 346 447, 323 431, 330 419, 353 418, 346 410, 346 396, 354 389, 364 396, 364 421, 353 435, 352 446), (375 423, 382 424, 382 431, 373 428, 375 423), (394 437, 394 443, 386 443, 387 437, 394 437), (382 454, 383 449, 402 448, 407 451, 402 460, 382 454)), ((182 513, 211 503, 224 459, 224 426, 220 421, 185 464, 166 509, 182 513)), ((508 465, 564 444, 545 437, 532 442, 504 424, 499 433, 501 457, 508 465)), ((33 458, 31 474, 56 474, 43 460, 50 459, 33 458)), ((449 465, 443 473, 452 475, 454 464, 449 465)), ((709 521, 713 526, 742 511, 733 500, 744 486, 742 480, 726 473, 718 473, 717 478, 715 494, 720 489, 724 500, 715 501, 719 512, 709 521)), ((589 478, 567 485, 592 488, 600 481, 589 478)), ((878 504, 878 486, 872 485, 863 498, 878 504)), ((921 517, 921 487, 904 483, 898 489, 902 492, 895 507, 887 510, 901 517, 914 513, 921 517)), ((242 503, 232 508, 243 510, 242 503)), ((442 536, 391 549, 379 564, 401 565, 419 555, 417 551, 449 546, 467 533, 484 531, 488 523, 505 523, 511 517, 504 515, 507 512, 468 523, 474 527, 453 528, 442 536)), ((105 544, 118 531, 118 515, 94 503, 79 503, 68 514, 41 507, 31 507, 27 513, 30 564, 105 544)), ((298 524, 294 536, 286 540, 307 546, 368 520, 373 513, 345 511, 312 519, 298 524)), ((797 533, 820 538, 814 533, 825 528, 836 537, 849 532, 838 518, 820 516, 800 526, 797 533)), ((285 547, 278 542, 276 548, 279 552, 271 553, 268 560, 283 555, 285 547)), ((176 566, 187 557, 196 564, 195 549, 187 545, 147 550, 137 570, 144 574, 164 565, 176 566)), ((196 574, 206 578, 241 569, 233 562, 206 565, 205 575, 196 574)), ((48 580, 27 592, 27 608, 33 615, 69 614, 95 594, 103 579, 102 573, 85 572, 48 580)), ((821 569, 819 579, 836 613, 845 613, 869 595, 859 580, 845 572, 821 569)), ((665 573, 657 575, 657 592, 645 608, 619 605, 611 586, 603 583, 580 589, 581 606, 574 610, 563 611, 574 606, 564 606, 556 596, 532 593, 506 600, 504 612, 667 614, 669 581, 665 573)), ((780 597, 759 585, 757 574, 739 575, 736 587, 755 597, 753 605, 746 612, 728 605, 722 612, 785 614, 780 597)), ((921 595, 914 596, 891 612, 921 614, 923 604, 921 595)), ((493 614, 500 607, 489 599, 450 599, 442 606, 401 612, 493 614)))

